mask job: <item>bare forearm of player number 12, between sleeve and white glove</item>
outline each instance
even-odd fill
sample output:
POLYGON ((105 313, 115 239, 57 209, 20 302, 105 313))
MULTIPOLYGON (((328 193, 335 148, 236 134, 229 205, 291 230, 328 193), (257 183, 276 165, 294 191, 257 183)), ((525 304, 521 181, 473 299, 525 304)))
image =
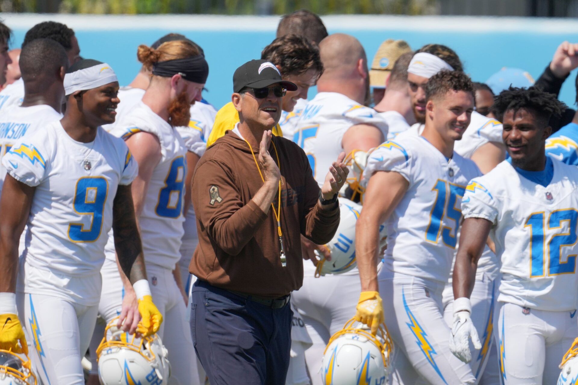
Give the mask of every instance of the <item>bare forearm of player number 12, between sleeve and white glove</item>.
POLYGON ((455 256, 453 287, 454 298, 472 294, 476 279, 477 261, 486 246, 492 223, 483 218, 466 218, 462 225, 460 245, 455 256))

